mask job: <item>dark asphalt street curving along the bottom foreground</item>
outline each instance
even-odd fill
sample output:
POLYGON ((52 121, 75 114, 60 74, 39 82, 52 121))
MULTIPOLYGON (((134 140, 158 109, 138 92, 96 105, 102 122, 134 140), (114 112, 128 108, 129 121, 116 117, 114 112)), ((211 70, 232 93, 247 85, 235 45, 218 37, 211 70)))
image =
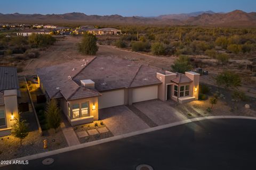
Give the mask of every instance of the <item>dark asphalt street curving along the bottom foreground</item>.
POLYGON ((29 160, 0 169, 125 170, 148 164, 154 169, 256 169, 256 121, 213 119, 191 122, 92 147, 29 160))

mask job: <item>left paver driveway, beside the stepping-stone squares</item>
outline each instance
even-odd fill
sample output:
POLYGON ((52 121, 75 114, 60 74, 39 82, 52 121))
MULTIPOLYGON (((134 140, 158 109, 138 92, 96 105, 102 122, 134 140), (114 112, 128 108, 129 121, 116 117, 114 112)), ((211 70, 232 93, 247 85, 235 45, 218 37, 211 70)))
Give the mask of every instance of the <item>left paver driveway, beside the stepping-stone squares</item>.
POLYGON ((149 128, 145 122, 123 105, 100 109, 99 118, 106 124, 113 135, 149 128))

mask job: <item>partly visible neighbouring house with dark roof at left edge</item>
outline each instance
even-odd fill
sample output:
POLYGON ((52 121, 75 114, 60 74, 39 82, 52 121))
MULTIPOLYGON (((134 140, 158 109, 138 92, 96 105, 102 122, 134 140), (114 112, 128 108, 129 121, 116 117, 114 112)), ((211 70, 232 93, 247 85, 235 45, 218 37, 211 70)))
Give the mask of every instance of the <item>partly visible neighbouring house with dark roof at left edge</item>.
POLYGON ((17 69, 0 66, 0 137, 11 134, 14 117, 18 117, 20 96, 17 69))

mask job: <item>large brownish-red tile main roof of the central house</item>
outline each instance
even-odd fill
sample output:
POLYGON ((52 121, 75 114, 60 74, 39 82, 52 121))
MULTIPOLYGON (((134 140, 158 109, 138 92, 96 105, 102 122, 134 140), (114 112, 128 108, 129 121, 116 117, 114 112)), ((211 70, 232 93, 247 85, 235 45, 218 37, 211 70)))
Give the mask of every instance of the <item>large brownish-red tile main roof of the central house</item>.
POLYGON ((84 63, 73 61, 37 69, 36 72, 50 98, 63 96, 66 100, 99 96, 99 92, 106 90, 160 84, 162 82, 156 78, 156 73, 165 72, 115 57, 95 57, 86 66, 81 66, 84 63), (95 89, 81 85, 80 81, 87 79, 95 83, 95 89))

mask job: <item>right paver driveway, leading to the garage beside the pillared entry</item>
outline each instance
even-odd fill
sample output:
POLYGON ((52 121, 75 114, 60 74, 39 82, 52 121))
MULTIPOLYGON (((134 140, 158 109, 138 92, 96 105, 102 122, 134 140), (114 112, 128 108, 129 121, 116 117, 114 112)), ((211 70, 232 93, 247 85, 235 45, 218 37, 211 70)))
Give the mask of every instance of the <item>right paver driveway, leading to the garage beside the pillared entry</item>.
POLYGON ((148 100, 133 104, 157 125, 187 120, 187 117, 160 100, 148 100))

